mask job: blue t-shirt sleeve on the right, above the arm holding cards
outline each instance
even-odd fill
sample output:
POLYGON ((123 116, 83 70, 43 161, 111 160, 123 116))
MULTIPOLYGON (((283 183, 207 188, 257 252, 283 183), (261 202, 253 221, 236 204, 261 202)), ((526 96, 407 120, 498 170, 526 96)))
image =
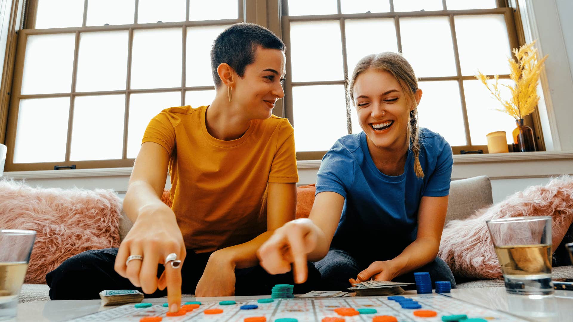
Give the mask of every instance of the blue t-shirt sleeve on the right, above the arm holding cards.
POLYGON ((423 195, 425 197, 444 197, 450 194, 450 182, 452 181, 452 166, 454 159, 452 156, 452 147, 442 139, 438 148, 437 162, 434 171, 429 175, 426 190, 423 195))

